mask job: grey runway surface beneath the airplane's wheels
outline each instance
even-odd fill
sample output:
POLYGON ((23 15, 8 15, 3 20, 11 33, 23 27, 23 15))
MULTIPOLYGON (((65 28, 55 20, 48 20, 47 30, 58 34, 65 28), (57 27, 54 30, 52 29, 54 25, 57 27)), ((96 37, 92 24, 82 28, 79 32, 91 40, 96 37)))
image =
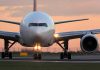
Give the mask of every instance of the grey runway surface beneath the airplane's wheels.
POLYGON ((71 60, 60 60, 59 55, 42 55, 42 60, 34 60, 33 57, 13 57, 12 60, 0 59, 0 61, 24 61, 24 62, 63 62, 63 63, 100 63, 100 55, 73 55, 71 60))

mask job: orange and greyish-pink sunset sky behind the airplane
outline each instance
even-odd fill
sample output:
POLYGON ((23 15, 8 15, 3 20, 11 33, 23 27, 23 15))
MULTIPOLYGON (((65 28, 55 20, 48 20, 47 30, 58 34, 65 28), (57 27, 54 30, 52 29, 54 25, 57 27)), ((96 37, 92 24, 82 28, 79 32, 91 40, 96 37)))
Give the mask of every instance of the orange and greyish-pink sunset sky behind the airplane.
MULTIPOLYGON (((54 21, 89 18, 87 21, 59 24, 55 26, 56 33, 90 30, 100 28, 100 0, 37 0, 37 10, 48 13, 54 21)), ((0 19, 21 22, 24 16, 33 10, 32 0, 0 0, 0 19)), ((20 27, 1 23, 0 31, 19 32, 20 27)), ((96 35, 98 40, 100 35, 96 35)), ((3 46, 3 40, 0 40, 3 46)), ((23 48, 16 44, 15 47, 23 48)), ((12 47, 14 49, 14 47, 12 47)), ((15 48, 16 49, 16 48, 15 48)), ((45 51, 61 51, 56 44, 45 51), (50 49, 50 50, 48 50, 50 49)), ((80 39, 69 41, 69 50, 80 50, 80 39)))

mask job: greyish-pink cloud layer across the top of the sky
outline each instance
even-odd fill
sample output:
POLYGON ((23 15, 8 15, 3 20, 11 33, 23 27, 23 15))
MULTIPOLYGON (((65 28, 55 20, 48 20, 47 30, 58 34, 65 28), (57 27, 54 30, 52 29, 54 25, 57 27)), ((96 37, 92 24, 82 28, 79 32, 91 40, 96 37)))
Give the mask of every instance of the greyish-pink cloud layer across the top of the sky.
MULTIPOLYGON (((11 16, 22 17, 32 11, 33 0, 0 0, 11 16)), ((52 16, 80 16, 100 14, 100 0, 37 0, 38 10, 52 16)), ((1 12, 0 12, 1 13, 1 12)))

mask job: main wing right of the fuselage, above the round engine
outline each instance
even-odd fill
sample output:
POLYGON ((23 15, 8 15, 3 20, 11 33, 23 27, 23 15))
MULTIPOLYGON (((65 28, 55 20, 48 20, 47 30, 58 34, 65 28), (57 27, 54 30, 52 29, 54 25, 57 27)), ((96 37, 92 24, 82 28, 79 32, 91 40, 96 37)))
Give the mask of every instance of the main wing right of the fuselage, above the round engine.
POLYGON ((75 39, 75 38, 81 38, 86 34, 99 34, 100 29, 94 29, 94 30, 84 30, 84 31, 72 31, 72 32, 61 32, 57 33, 58 37, 55 38, 56 41, 64 41, 68 39, 75 39))

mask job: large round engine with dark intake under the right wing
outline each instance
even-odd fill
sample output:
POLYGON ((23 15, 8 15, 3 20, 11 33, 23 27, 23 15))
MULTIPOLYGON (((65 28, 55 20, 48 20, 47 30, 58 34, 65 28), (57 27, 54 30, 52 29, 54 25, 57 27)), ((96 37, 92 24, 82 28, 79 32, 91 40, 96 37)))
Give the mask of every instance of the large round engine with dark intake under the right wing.
POLYGON ((80 41, 81 50, 84 52, 94 52, 98 48, 97 38, 92 34, 87 34, 80 41))

